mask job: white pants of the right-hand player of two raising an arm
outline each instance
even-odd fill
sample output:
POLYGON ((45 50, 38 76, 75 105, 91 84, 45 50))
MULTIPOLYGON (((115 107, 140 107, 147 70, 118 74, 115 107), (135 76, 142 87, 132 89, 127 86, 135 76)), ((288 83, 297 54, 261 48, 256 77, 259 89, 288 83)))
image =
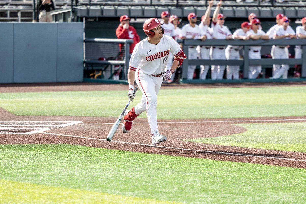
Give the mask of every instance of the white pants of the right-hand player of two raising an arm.
MULTIPOLYGON (((225 60, 225 49, 211 48, 210 57, 213 60, 225 60)), ((211 79, 223 79, 225 65, 211 65, 211 79)))

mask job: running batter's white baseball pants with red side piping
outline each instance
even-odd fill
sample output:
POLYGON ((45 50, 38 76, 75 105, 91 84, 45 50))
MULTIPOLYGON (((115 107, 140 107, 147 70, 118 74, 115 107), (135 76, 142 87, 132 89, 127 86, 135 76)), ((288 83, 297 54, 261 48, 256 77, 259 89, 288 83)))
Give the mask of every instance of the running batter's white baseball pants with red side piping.
POLYGON ((139 115, 140 113, 147 111, 148 122, 151 128, 151 134, 153 134, 157 128, 157 93, 162 85, 162 76, 155 77, 147 75, 136 69, 135 72, 136 83, 142 92, 142 97, 140 102, 134 107, 135 113, 139 115))

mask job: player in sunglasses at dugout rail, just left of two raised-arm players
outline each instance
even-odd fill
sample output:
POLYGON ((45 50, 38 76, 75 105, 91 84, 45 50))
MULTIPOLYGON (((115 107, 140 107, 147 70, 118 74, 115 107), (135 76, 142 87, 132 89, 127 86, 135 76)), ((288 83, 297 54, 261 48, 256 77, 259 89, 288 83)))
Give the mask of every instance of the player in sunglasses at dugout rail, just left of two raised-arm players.
MULTIPOLYGON (((182 27, 181 39, 201 39, 205 40, 206 35, 201 31, 200 27, 196 24, 196 14, 189 13, 188 21, 189 24, 186 24, 182 27)), ((196 46, 189 46, 188 48, 188 59, 197 59, 196 46)), ((193 73, 196 69, 196 65, 188 65, 188 75, 187 80, 193 79, 193 73)))

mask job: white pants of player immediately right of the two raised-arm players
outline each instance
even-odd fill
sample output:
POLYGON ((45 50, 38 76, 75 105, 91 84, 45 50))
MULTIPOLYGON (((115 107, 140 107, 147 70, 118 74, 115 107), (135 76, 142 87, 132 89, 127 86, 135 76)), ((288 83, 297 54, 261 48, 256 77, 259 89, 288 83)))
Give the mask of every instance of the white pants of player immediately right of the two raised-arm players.
MULTIPOLYGON (((230 47, 225 49, 225 57, 227 60, 238 60, 240 58, 239 50, 230 47)), ((239 65, 226 65, 226 79, 239 79, 239 65)))

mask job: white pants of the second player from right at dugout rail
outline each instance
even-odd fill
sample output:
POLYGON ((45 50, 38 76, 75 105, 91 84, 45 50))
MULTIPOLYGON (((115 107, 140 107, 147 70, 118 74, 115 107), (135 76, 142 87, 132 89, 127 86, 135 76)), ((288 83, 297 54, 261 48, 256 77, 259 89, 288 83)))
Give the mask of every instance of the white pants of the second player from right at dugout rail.
MULTIPOLYGON (((275 46, 274 58, 275 59, 289 59, 288 48, 287 47, 280 48, 279 46, 275 46)), ((274 75, 272 77, 273 79, 278 79, 281 76, 283 77, 283 79, 288 78, 289 65, 275 65, 273 69, 274 69, 274 75)))

